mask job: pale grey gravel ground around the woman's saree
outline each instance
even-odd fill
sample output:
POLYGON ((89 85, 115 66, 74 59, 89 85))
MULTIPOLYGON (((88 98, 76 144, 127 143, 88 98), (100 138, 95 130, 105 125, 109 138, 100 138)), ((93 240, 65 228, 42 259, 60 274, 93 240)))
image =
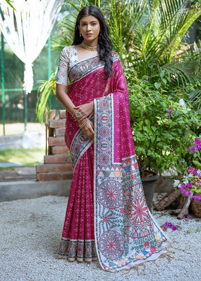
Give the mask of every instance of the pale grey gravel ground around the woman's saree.
POLYGON ((166 231, 173 258, 145 263, 138 273, 134 268, 109 273, 98 261, 57 259, 66 204, 66 198, 57 196, 0 203, 0 280, 201 280, 201 219, 184 222, 154 212, 159 225, 179 225, 177 231, 166 231))

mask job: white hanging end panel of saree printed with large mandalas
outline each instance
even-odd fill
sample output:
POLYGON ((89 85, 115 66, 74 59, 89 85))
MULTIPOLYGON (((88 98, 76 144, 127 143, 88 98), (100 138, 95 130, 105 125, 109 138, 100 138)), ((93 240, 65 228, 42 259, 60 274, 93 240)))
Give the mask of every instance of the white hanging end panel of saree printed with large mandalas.
MULTIPOLYGON (((104 98, 106 98, 106 96, 104 98)), ((109 99, 111 98, 111 101, 113 100, 112 94, 109 94, 107 98, 108 103, 110 103, 109 99)), ((147 208, 146 201, 144 199, 142 182, 140 180, 140 172, 137 166, 136 154, 122 159, 121 165, 114 163, 114 154, 110 154, 110 157, 112 157, 112 162, 110 162, 110 164, 108 163, 108 165, 111 168, 107 166, 103 167, 105 171, 108 171, 107 175, 104 174, 105 178, 104 175, 97 170, 98 165, 100 165, 100 163, 98 163, 97 161, 97 157, 100 157, 100 154, 96 155, 100 152, 98 150, 98 142, 100 140, 103 141, 100 136, 97 136, 99 122, 99 113, 97 113, 97 110, 99 110, 99 108, 97 109, 97 104, 99 103, 100 98, 98 99, 98 101, 94 101, 94 233, 96 240, 96 252, 101 267, 105 271, 115 272, 121 269, 132 268, 133 266, 142 264, 145 261, 155 260, 159 256, 161 256, 161 254, 166 254, 168 237, 165 236, 165 233, 161 230, 160 226, 158 226, 154 217, 151 215, 149 209, 147 208), (120 178, 117 176, 118 180, 114 177, 114 180, 112 180, 111 171, 113 168, 118 168, 117 166, 120 166, 120 178), (133 178, 133 176, 136 177, 133 178), (131 177, 130 180, 128 179, 129 177, 131 177), (107 199, 103 198, 102 187, 103 185, 107 185, 107 187, 112 190, 111 187, 113 185, 113 181, 116 182, 115 185, 117 185, 116 192, 118 192, 118 189, 121 189, 121 191, 119 193, 118 199, 120 203, 117 201, 113 201, 112 206, 111 204, 109 205, 107 199), (131 183, 133 182, 131 187, 128 187, 129 181, 131 183), (123 187, 121 187, 121 183, 123 187), (100 191, 100 189, 102 190, 100 191), (102 197, 100 196, 100 194, 102 197), (142 211, 144 210, 144 217, 143 215, 140 219, 138 217, 137 222, 137 216, 135 217, 135 215, 132 215, 132 213, 129 214, 129 212, 131 212, 130 209, 132 209, 132 207, 137 206, 135 204, 138 201, 142 206, 142 208, 140 208, 142 209, 142 211), (126 205, 124 205, 125 202, 127 202, 126 205), (114 206, 115 204, 116 206, 114 206), (123 216, 121 210, 124 213, 123 216), (107 217, 105 217, 106 213, 108 214, 107 217), (113 214, 113 218, 111 217, 111 214, 113 214), (107 227, 107 225, 104 226, 104 218, 105 224, 107 224, 107 219, 108 222, 111 219, 120 219, 119 224, 123 223, 124 230, 121 229, 121 226, 118 226, 120 228, 116 226, 111 227, 110 224, 109 228, 107 227), (134 224, 132 224, 132 219, 133 222, 135 221, 134 224), (113 250, 108 253, 108 245, 106 245, 106 242, 109 240, 111 243, 111 247, 112 245, 114 245, 114 240, 116 241, 117 247, 115 251, 113 250)), ((111 126, 114 126, 114 121, 112 121, 114 116, 112 116, 111 118, 111 126)), ((111 138, 114 138, 114 128, 112 128, 111 138)))

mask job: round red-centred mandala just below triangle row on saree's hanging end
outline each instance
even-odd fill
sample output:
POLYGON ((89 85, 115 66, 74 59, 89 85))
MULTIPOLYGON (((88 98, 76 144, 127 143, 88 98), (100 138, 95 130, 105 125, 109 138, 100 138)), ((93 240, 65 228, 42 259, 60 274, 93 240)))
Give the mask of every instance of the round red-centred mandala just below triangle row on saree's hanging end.
POLYGON ((105 180, 98 187, 98 201, 108 209, 119 208, 123 204, 123 189, 117 180, 105 180))

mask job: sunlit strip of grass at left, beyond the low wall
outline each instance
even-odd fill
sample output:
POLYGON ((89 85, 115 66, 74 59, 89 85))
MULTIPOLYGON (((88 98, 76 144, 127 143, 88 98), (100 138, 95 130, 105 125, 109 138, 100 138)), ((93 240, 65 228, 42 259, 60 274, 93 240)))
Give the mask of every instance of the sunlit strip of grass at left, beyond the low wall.
POLYGON ((20 162, 23 166, 30 167, 43 161, 44 155, 45 149, 39 147, 32 149, 0 150, 0 163, 20 162))

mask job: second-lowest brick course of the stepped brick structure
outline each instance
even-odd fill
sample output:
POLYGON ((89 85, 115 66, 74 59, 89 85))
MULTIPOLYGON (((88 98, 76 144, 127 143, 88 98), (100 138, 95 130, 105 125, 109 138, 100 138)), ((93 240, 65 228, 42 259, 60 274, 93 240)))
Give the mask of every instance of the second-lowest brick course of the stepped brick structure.
POLYGON ((36 173, 65 173, 73 171, 72 164, 39 164, 36 165, 36 173))

